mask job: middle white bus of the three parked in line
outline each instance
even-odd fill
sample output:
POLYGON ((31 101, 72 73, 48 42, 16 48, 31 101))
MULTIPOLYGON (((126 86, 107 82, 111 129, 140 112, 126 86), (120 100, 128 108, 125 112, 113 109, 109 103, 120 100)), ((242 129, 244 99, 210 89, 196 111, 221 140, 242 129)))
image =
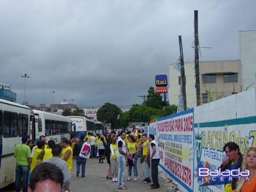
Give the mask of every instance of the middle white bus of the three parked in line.
POLYGON ((36 143, 41 135, 46 136, 47 141, 53 140, 56 144, 59 144, 63 137, 71 140, 71 120, 67 116, 39 110, 33 111, 35 114, 36 143))

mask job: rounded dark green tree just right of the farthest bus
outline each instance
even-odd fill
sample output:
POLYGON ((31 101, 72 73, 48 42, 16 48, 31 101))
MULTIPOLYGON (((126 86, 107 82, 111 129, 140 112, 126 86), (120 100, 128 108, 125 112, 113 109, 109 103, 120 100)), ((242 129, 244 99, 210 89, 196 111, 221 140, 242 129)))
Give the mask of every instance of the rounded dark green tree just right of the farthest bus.
POLYGON ((121 109, 112 103, 105 103, 97 111, 97 119, 101 122, 111 123, 112 128, 118 126, 118 116, 121 114, 121 109))

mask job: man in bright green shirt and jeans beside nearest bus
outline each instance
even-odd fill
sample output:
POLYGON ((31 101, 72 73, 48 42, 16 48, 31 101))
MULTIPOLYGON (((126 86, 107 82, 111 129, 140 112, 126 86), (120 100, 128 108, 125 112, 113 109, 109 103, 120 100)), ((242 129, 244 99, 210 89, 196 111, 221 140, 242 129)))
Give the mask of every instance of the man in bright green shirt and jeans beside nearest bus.
POLYGON ((22 144, 17 145, 14 151, 16 157, 16 176, 15 176, 15 190, 20 191, 20 178, 22 177, 23 192, 27 192, 28 187, 28 171, 31 166, 31 150, 27 145, 27 136, 22 137, 22 144))

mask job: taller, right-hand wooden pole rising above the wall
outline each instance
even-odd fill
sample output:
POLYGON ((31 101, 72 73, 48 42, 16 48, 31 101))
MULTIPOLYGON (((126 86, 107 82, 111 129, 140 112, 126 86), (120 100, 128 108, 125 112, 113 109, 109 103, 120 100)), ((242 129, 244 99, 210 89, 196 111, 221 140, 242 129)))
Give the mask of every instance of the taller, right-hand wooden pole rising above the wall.
POLYGON ((196 106, 201 105, 200 99, 200 73, 199 73, 199 34, 198 34, 198 11, 194 11, 195 28, 195 73, 196 73, 196 106))

